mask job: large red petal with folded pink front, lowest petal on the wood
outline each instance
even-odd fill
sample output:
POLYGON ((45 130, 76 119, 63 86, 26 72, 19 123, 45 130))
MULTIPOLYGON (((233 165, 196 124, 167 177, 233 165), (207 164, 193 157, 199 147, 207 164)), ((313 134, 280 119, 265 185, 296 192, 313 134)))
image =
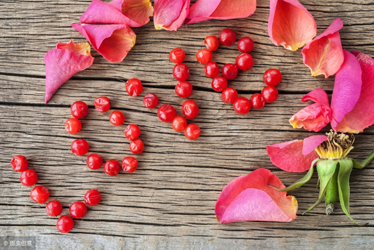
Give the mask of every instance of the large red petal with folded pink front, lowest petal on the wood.
POLYGON ((297 201, 286 192, 281 180, 267 169, 256 169, 227 184, 215 204, 215 214, 220 223, 237 220, 262 220, 288 222, 294 220, 297 201))

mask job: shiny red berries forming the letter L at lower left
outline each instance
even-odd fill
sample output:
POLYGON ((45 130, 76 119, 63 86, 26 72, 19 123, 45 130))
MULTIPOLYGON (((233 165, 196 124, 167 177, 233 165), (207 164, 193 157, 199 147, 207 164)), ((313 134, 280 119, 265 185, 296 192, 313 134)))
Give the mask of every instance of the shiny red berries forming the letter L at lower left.
MULTIPOLYGON (((16 172, 21 172, 19 180, 22 185, 33 186, 38 181, 36 172, 32 169, 28 169, 27 158, 23 155, 16 155, 10 161, 10 166, 16 172)), ((39 203, 45 203, 49 198, 49 190, 45 186, 35 186, 30 192, 30 198, 39 203)), ((96 189, 91 189, 86 192, 84 201, 89 206, 95 206, 101 201, 101 194, 96 189)), ((71 215, 62 215, 56 222, 56 227, 59 232, 67 233, 74 226, 74 219, 81 219, 87 213, 87 206, 82 201, 74 201, 69 207, 69 213, 71 215), (73 217, 73 218, 72 218, 73 217)), ((46 212, 50 216, 58 216, 62 213, 62 205, 58 200, 49 201, 46 205, 46 212)))

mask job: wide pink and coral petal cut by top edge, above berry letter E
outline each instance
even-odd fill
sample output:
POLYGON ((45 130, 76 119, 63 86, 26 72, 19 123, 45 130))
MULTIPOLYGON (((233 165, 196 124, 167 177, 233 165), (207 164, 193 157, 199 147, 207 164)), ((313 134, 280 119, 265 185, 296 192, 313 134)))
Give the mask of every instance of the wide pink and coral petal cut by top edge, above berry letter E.
POLYGON ((209 19, 246 18, 256 10, 256 0, 197 0, 192 4, 186 24, 209 19))

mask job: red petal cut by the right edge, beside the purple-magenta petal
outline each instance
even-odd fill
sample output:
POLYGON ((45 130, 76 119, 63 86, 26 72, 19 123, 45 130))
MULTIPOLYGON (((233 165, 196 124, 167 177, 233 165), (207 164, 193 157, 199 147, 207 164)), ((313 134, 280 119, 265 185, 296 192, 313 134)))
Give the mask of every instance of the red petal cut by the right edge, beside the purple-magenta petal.
POLYGON ((336 130, 342 133, 361 133, 374 124, 374 59, 359 51, 352 51, 362 70, 360 98, 344 116, 336 130))

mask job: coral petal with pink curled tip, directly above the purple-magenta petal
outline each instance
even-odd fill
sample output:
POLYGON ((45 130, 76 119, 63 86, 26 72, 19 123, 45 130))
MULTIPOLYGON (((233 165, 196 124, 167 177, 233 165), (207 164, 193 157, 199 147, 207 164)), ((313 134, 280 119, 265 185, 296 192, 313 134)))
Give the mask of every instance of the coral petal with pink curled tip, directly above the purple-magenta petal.
POLYGON ((304 64, 310 68, 312 76, 334 75, 344 61, 339 30, 343 22, 337 18, 332 24, 302 50, 304 64))

